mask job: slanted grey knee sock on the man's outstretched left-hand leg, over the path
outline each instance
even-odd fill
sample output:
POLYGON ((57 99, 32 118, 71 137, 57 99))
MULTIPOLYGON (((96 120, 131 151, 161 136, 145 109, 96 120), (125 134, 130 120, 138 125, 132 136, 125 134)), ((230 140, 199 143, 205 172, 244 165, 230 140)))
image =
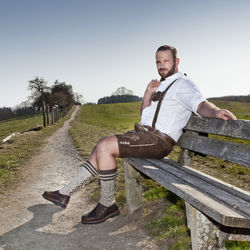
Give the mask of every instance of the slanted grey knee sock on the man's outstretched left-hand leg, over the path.
POLYGON ((61 188, 59 192, 61 194, 71 196, 76 191, 85 186, 94 176, 97 175, 96 169, 91 165, 89 161, 86 161, 78 170, 75 177, 65 187, 61 188))

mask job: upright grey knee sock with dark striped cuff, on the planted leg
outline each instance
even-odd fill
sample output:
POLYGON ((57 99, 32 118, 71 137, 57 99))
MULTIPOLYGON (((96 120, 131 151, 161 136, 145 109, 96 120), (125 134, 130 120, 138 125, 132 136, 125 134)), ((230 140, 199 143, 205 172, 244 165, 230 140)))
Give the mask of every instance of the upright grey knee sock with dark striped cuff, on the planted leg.
POLYGON ((101 182, 101 198, 99 203, 110 207, 115 203, 115 177, 117 169, 100 170, 99 179, 101 182))

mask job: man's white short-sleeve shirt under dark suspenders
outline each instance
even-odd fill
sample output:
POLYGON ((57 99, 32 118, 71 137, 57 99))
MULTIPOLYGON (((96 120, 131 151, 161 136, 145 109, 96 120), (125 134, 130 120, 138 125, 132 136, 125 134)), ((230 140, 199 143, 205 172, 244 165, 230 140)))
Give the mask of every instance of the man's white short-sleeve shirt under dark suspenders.
MULTIPOLYGON (((166 78, 156 91, 164 91, 175 79, 177 80, 169 88, 162 101, 155 128, 178 141, 192 112, 197 114, 199 104, 206 99, 182 72, 166 78)), ((152 126, 157 104, 158 101, 151 102, 150 106, 143 110, 142 125, 152 126)))

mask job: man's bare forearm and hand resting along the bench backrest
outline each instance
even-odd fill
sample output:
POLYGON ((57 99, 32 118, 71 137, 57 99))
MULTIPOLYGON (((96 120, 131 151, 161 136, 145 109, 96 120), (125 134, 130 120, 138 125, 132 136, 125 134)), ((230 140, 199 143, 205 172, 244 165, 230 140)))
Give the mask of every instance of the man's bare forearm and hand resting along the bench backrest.
POLYGON ((236 116, 226 109, 220 109, 208 101, 201 102, 197 113, 206 118, 219 118, 223 120, 237 120, 236 116))

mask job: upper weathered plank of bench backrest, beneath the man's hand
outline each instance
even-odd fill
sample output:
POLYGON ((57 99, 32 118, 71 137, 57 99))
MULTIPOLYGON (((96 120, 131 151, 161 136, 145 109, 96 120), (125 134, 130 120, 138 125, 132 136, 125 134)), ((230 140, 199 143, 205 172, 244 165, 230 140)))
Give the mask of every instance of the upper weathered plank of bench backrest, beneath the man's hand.
POLYGON ((250 120, 224 121, 191 116, 184 129, 250 140, 250 120))

